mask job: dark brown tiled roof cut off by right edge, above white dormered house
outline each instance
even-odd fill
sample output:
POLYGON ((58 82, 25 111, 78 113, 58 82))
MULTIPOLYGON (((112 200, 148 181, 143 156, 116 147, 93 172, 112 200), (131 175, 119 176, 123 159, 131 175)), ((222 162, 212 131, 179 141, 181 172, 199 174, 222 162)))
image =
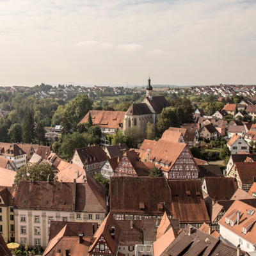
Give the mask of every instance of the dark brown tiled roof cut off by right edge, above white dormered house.
MULTIPOLYGON (((243 155, 242 155, 243 156, 243 155)), ((256 177, 256 162, 235 163, 237 173, 242 183, 253 183, 253 176, 256 177)))

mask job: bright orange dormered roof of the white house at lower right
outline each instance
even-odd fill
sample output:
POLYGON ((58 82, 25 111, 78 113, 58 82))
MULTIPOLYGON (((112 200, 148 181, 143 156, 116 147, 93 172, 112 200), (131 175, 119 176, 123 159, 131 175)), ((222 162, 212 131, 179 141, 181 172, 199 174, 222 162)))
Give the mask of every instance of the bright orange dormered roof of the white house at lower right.
POLYGON ((228 211, 225 213, 223 218, 221 218, 221 220, 219 221, 219 225, 232 231, 237 236, 243 237, 243 239, 245 239, 246 241, 248 241, 252 244, 255 244, 256 243, 256 225, 255 225, 255 223, 250 228, 250 232, 246 232, 246 234, 243 233, 243 227, 246 228, 245 227, 246 221, 251 220, 251 219, 256 220, 255 216, 253 216, 253 215, 251 216, 250 214, 248 214, 248 211, 250 211, 250 209, 252 209, 253 211, 256 211, 255 207, 245 204, 244 202, 241 202, 240 200, 236 200, 234 202, 234 204, 232 204, 231 207, 228 209, 228 211), (239 224, 237 225, 237 223, 236 223, 236 225, 234 225, 233 227, 231 227, 230 224, 226 223, 226 217, 229 218, 228 216, 230 216, 230 212, 232 212, 232 211, 240 211, 241 212, 239 224))

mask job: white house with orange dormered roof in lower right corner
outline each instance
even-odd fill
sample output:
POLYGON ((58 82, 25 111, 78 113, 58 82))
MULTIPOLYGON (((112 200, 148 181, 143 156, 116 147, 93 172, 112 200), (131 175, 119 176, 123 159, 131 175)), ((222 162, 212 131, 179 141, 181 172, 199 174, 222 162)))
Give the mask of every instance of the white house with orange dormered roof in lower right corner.
POLYGON ((219 221, 220 234, 231 246, 246 251, 256 250, 256 208, 236 200, 219 221))

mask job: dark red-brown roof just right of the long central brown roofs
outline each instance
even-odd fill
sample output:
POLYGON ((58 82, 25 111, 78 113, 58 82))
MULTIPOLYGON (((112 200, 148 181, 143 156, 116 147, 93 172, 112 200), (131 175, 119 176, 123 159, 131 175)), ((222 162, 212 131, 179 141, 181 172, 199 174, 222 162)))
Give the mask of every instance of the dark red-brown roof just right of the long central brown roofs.
POLYGON ((205 177, 207 194, 213 200, 230 200, 238 186, 234 178, 229 177, 205 177))

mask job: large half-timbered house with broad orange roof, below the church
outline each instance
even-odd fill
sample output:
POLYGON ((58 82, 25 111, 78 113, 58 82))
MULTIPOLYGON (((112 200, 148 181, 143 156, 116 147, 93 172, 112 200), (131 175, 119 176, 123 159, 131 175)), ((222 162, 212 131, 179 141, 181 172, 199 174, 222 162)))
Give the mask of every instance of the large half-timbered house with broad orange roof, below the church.
POLYGON ((150 162, 161 169, 168 180, 198 179, 198 166, 184 143, 158 140, 150 162))

